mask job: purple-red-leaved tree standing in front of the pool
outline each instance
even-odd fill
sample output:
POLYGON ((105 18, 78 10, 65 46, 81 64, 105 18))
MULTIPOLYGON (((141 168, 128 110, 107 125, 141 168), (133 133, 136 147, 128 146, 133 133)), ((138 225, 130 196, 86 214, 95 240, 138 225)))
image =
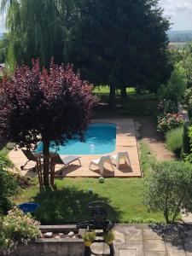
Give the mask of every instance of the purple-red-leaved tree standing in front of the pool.
POLYGON ((41 71, 39 61, 32 69, 17 67, 0 84, 0 140, 13 141, 20 148, 44 143, 44 186, 49 186, 49 143, 65 144, 73 135, 84 140, 96 100, 90 84, 73 73, 73 67, 51 62, 41 71))

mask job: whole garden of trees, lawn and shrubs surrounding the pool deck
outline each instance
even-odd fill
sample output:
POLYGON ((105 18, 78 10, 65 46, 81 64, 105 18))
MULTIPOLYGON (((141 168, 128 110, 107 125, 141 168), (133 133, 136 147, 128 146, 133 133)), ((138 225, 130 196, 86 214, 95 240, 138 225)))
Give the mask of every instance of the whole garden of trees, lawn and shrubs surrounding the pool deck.
MULTIPOLYGON (((192 212, 192 44, 168 51, 170 23, 156 1, 119 1, 119 12, 116 3, 108 9, 108 1, 71 1, 68 8, 45 2, 2 3, 9 32, 0 44, 0 254, 44 238, 40 224, 83 222, 93 201, 108 203, 119 224, 182 224, 183 214, 192 212), (141 20, 132 17, 132 23, 130 9, 141 20), (136 21, 137 27, 127 26, 136 21), (133 120, 141 177, 55 177, 50 144, 57 154, 74 137, 85 143, 92 119, 133 120), (32 153, 39 143, 37 175, 22 176, 9 152, 32 153), (31 214, 22 203, 38 207, 31 214)), ((108 245, 114 238, 110 230, 103 236, 108 245)), ((79 239, 90 247, 96 233, 79 239)))

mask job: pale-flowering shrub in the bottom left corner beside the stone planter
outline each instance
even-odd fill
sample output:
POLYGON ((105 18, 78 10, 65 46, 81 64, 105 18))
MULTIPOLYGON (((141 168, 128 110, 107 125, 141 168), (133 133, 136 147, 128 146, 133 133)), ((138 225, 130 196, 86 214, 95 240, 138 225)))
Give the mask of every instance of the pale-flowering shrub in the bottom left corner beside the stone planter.
POLYGON ((18 242, 27 244, 28 241, 41 236, 38 224, 30 213, 25 214, 14 207, 7 216, 0 219, 0 248, 4 252, 10 252, 18 242))

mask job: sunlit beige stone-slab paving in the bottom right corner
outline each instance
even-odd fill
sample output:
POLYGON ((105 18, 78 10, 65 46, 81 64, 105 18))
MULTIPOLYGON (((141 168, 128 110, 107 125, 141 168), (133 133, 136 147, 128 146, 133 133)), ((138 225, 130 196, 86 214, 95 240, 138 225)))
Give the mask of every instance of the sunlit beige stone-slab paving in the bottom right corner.
MULTIPOLYGON (((172 236, 160 236, 160 230, 147 224, 119 224, 114 230, 115 256, 192 256, 192 228, 185 227, 182 232, 175 228, 169 232, 172 236)), ((99 243, 91 249, 92 256, 109 253, 108 246, 99 243)))

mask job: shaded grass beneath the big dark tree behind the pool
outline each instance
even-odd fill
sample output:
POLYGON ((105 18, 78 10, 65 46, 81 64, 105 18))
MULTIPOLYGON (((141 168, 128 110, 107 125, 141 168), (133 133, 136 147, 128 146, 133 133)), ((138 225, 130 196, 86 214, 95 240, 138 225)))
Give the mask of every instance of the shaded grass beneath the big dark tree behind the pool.
POLYGON ((116 108, 108 108, 108 86, 96 87, 96 96, 101 99, 96 108, 95 118, 127 118, 138 116, 156 116, 158 101, 154 94, 137 94, 134 88, 127 88, 127 97, 120 97, 120 90, 116 90, 116 108))

